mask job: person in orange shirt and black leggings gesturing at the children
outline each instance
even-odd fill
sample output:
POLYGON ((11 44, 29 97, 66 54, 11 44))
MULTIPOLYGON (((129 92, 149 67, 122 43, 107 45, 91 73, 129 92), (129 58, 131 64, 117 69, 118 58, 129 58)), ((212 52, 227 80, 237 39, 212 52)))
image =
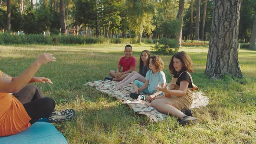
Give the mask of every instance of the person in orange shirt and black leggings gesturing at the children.
POLYGON ((45 53, 39 56, 25 72, 12 79, 8 79, 6 74, 0 71, 0 137, 17 134, 40 118, 47 118, 52 114, 55 108, 55 101, 52 98, 39 98, 23 105, 10 93, 20 92, 30 82, 52 83, 47 78, 33 76, 40 66, 55 61, 52 54, 45 53))

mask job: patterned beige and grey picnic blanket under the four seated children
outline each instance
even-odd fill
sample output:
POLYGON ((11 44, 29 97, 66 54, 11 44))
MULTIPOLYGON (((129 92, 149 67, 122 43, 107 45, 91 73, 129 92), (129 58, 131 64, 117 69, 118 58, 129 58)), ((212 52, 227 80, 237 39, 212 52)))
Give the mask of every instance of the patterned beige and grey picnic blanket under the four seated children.
MULTIPOLYGON (((118 100, 122 101, 122 104, 127 104, 130 108, 132 108, 135 112, 138 114, 146 115, 150 121, 163 121, 167 115, 161 113, 158 111, 156 108, 153 108, 150 106, 149 101, 138 101, 137 99, 133 99, 129 96, 130 93, 134 92, 133 91, 133 86, 132 84, 126 85, 124 88, 121 90, 116 90, 115 89, 115 84, 117 82, 115 81, 95 81, 95 82, 88 82, 85 85, 89 85, 91 87, 96 88, 98 91, 102 93, 108 94, 110 97, 115 97, 118 100)), ((167 87, 170 84, 165 84, 167 87)), ((148 96, 146 94, 143 94, 145 96, 148 96)), ((209 103, 209 98, 206 96, 202 95, 202 92, 196 92, 194 93, 194 102, 191 105, 191 108, 200 108, 208 105, 209 103)))

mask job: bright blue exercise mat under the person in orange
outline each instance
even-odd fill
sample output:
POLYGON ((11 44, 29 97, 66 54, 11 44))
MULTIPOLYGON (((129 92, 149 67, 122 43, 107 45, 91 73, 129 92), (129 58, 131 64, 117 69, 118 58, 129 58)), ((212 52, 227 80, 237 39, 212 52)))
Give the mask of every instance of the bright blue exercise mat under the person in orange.
POLYGON ((0 144, 68 144, 68 142, 53 124, 41 119, 18 134, 0 137, 0 144))

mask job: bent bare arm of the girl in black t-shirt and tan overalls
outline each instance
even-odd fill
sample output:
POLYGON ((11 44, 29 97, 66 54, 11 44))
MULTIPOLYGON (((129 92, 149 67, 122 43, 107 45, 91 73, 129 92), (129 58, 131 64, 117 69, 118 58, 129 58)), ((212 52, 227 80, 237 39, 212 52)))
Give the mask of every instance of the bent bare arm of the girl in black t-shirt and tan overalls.
POLYGON ((179 90, 167 89, 166 86, 164 86, 164 88, 157 87, 157 90, 161 91, 161 92, 164 92, 165 93, 165 97, 170 97, 172 95, 184 96, 187 93, 187 87, 188 87, 188 82, 187 81, 181 81, 181 85, 180 85, 180 89, 179 90))

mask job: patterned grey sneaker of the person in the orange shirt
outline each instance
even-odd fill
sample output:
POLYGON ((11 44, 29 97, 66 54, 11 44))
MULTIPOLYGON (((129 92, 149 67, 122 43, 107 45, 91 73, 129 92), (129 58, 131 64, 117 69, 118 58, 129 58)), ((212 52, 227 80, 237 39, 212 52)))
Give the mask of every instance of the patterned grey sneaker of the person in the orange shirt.
POLYGON ((69 121, 75 116, 75 110, 68 108, 63 111, 54 111, 48 118, 48 122, 69 121))

